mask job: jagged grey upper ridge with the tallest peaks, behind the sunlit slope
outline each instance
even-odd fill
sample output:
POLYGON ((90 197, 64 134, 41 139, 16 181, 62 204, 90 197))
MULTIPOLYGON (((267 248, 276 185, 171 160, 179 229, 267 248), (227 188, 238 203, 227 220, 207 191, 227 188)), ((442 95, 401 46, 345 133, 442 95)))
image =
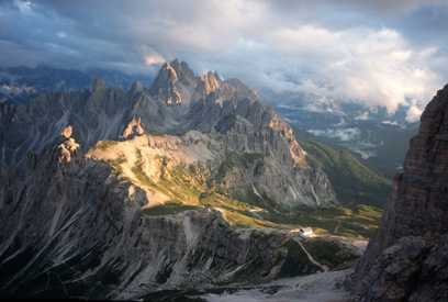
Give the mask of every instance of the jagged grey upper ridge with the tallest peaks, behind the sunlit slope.
MULTIPOLYGON (((124 93, 97 79, 92 92, 48 92, 38 97, 38 103, 32 100, 11 108, 0 118, 0 165, 20 164, 27 152, 41 152, 69 125, 70 136, 87 149, 100 139, 138 135, 142 130, 168 134, 209 132, 227 114, 247 119, 257 131, 271 127, 271 120, 277 119, 239 80, 223 81, 216 71, 194 77, 187 63, 173 60, 161 67, 149 90, 135 81, 124 93), (180 82, 180 78, 189 85, 180 82)), ((283 122, 280 127, 288 126, 283 122)))

